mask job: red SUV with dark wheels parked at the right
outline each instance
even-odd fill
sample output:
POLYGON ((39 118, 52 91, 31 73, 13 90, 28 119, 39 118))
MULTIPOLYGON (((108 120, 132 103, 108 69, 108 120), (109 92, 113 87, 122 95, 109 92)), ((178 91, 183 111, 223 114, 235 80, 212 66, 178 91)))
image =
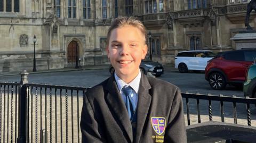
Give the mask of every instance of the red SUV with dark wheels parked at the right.
POLYGON ((227 84, 236 85, 245 81, 247 68, 256 57, 256 48, 220 52, 208 61, 205 79, 211 88, 222 90, 227 84))

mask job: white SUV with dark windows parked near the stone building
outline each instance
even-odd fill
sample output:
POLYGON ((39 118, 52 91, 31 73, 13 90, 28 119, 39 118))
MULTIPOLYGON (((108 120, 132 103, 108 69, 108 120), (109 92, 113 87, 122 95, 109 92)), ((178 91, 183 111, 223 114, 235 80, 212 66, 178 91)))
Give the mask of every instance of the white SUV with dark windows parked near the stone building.
POLYGON ((175 68, 185 73, 188 70, 204 71, 207 61, 216 55, 212 51, 183 51, 175 57, 175 68))

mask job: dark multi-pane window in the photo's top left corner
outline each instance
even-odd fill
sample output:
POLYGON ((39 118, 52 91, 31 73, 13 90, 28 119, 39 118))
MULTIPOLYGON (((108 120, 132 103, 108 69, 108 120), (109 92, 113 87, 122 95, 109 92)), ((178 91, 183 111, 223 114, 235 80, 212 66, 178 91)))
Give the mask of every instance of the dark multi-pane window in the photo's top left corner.
POLYGON ((0 12, 20 12, 20 0, 0 0, 0 12))

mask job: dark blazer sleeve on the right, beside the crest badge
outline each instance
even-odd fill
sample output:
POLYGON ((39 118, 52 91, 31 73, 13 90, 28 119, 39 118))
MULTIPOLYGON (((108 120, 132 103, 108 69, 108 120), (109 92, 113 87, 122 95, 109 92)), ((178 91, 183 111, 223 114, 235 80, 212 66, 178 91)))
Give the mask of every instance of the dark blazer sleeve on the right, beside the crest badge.
POLYGON ((182 97, 179 88, 176 89, 174 94, 164 142, 187 142, 182 97))

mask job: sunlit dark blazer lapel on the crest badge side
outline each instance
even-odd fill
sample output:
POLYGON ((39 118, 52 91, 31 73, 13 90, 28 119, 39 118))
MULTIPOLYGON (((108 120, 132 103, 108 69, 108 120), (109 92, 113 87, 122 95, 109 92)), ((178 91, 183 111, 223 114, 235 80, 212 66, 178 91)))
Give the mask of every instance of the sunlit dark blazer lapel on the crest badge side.
POLYGON ((140 142, 140 136, 144 127, 149 107, 151 104, 151 95, 149 89, 151 88, 146 75, 141 74, 140 88, 139 88, 139 99, 137 108, 137 128, 136 128, 136 142, 140 142))

